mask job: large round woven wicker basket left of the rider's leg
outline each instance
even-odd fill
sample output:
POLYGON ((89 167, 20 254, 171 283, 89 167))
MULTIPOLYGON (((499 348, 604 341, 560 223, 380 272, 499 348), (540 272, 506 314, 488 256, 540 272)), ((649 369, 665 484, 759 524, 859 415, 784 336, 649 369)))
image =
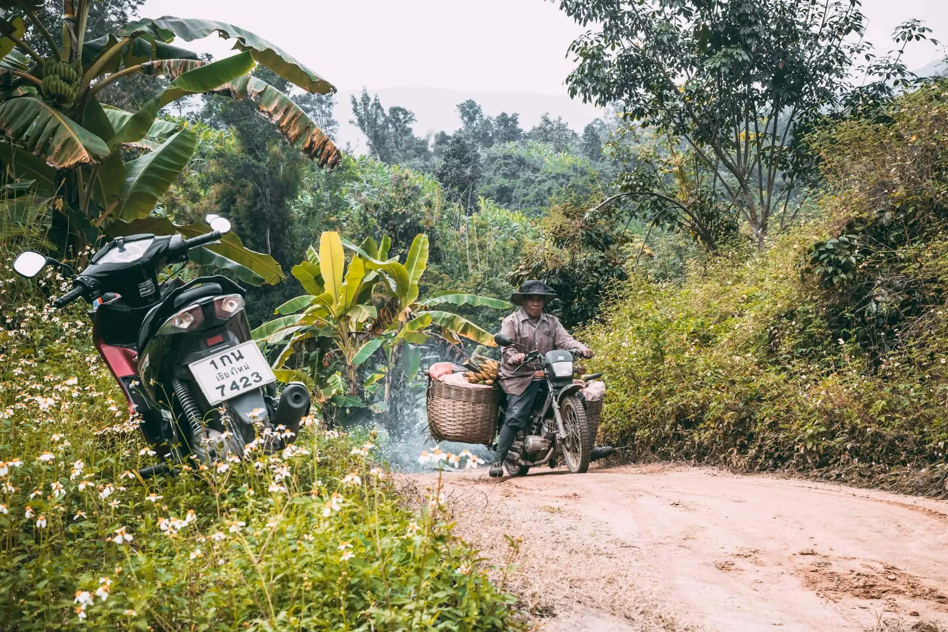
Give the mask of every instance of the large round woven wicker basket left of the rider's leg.
POLYGON ((428 428, 435 441, 494 442, 497 388, 464 388, 428 379, 428 428))

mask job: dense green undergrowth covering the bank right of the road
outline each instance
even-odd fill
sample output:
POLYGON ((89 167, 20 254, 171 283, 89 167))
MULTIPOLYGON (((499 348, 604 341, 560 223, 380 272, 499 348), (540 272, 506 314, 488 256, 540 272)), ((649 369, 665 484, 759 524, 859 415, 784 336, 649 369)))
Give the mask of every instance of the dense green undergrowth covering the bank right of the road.
POLYGON ((613 288, 584 333, 603 431, 637 459, 793 470, 945 494, 948 105, 944 85, 812 140, 820 219, 613 288))

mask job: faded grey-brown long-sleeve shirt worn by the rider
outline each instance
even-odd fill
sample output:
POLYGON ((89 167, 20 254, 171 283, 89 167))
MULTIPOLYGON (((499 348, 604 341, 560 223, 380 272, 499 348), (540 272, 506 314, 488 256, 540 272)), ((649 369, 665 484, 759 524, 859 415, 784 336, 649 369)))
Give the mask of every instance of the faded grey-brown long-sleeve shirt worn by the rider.
MULTIPOLYGON (((522 345, 527 351, 546 353, 554 349, 586 350, 586 345, 570 335, 559 322, 559 318, 544 312, 539 315, 537 321, 533 321, 522 307, 503 319, 501 334, 522 345)), ((508 395, 520 395, 526 390, 533 380, 534 371, 538 369, 536 366, 527 365, 515 371, 517 365, 513 364, 510 358, 522 352, 522 349, 513 345, 504 347, 501 351, 501 388, 508 395)))

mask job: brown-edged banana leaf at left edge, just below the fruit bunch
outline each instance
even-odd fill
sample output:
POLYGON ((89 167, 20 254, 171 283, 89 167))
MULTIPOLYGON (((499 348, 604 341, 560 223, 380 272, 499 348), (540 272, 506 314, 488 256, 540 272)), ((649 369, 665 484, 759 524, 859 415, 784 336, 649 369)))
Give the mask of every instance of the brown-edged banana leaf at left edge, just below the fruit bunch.
POLYGON ((100 162, 111 153, 99 136, 33 97, 0 103, 0 129, 17 145, 61 169, 100 162))

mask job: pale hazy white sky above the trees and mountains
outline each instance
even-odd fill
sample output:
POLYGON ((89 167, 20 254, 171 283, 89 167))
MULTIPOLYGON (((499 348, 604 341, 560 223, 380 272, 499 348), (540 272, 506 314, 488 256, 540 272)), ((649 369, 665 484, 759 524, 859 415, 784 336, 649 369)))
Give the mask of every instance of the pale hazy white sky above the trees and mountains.
MULTIPOLYGON (((948 40, 946 0, 864 0, 869 41, 887 49, 892 28, 924 19, 948 40)), ((339 90, 425 86, 471 92, 563 94, 567 46, 582 32, 544 0, 146 0, 143 16, 209 18, 283 47, 339 90)), ((209 38, 202 49, 228 46, 209 38)), ((910 68, 938 54, 914 45, 910 68)))

